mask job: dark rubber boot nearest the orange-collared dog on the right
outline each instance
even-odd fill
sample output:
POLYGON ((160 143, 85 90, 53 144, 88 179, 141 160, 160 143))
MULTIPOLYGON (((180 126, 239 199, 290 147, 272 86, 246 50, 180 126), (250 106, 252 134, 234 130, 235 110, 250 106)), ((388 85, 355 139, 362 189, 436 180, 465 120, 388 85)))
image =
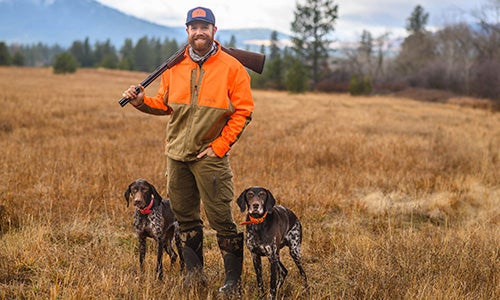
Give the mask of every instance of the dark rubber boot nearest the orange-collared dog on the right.
POLYGON ((219 293, 228 298, 241 298, 243 268, 243 232, 234 236, 219 236, 217 242, 224 260, 226 278, 219 293))

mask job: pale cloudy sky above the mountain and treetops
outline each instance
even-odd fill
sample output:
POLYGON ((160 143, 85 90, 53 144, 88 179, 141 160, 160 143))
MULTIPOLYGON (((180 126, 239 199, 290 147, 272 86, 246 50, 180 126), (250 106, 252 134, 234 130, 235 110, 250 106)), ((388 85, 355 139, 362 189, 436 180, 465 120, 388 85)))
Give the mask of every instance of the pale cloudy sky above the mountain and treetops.
MULTIPOLYGON (((127 14, 167 26, 184 26, 187 11, 205 6, 221 29, 269 28, 290 33, 296 0, 97 0, 127 14)), ((305 0, 300 0, 304 3, 305 0)), ((339 17, 334 38, 359 40, 363 30, 373 36, 406 33, 406 19, 417 5, 429 13, 428 28, 466 19, 488 0, 337 0, 339 17)))

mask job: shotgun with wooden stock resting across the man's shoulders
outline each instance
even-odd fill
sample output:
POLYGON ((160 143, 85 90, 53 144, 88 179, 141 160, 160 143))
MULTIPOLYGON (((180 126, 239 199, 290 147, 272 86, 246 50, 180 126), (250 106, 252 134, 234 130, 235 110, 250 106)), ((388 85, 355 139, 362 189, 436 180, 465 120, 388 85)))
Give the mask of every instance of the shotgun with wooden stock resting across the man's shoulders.
MULTIPOLYGON (((167 60, 159 65, 151 74, 148 75, 148 77, 146 77, 146 79, 141 82, 141 85, 143 87, 147 87, 167 69, 170 69, 176 64, 180 63, 184 59, 184 52, 186 51, 186 47, 187 45, 184 45, 179 50, 177 50, 177 52, 172 54, 172 56, 167 58, 167 60)), ((249 68, 250 70, 262 74, 262 70, 264 69, 264 62, 266 60, 266 56, 264 54, 231 47, 222 47, 222 51, 236 58, 242 65, 249 68)), ((136 88, 135 91, 136 93, 139 93, 141 90, 139 88, 136 88)), ((130 100, 128 98, 121 98, 118 103, 120 103, 121 107, 124 107, 129 101, 130 100)))

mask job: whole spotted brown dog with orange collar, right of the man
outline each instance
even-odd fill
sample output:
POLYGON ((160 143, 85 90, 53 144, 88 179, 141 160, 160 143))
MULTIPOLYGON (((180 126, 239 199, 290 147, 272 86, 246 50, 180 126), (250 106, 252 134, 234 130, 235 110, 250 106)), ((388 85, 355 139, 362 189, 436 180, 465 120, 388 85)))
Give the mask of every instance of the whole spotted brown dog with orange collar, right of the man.
POLYGON ((246 225, 246 245, 252 254, 259 296, 264 295, 261 257, 266 256, 271 268, 269 298, 276 298, 277 289, 288 273, 280 261, 280 249, 284 246, 289 247, 290 256, 303 278, 304 289, 308 291, 306 272, 300 257, 302 226, 297 216, 288 208, 275 206, 274 196, 263 187, 246 189, 238 197, 237 203, 241 212, 248 211, 247 221, 242 224, 246 225))

